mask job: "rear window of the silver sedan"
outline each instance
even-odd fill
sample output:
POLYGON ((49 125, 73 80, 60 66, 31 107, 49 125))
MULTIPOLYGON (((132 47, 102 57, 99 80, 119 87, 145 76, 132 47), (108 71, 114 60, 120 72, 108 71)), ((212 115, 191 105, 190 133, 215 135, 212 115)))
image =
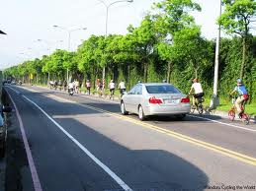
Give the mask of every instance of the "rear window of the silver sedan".
POLYGON ((180 94, 181 92, 171 85, 146 86, 148 94, 180 94))

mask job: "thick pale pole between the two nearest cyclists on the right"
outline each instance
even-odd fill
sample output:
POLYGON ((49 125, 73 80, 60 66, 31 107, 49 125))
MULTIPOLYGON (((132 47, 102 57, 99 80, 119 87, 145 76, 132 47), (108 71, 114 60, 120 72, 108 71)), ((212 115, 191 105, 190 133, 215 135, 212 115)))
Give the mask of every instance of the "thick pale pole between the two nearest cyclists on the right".
MULTIPOLYGON (((221 4, 219 1, 219 17, 221 16, 221 4)), ((220 41, 220 25, 218 25, 218 33, 215 42, 215 63, 214 63, 214 79, 213 79, 213 98, 210 103, 210 108, 213 109, 219 105, 219 99, 217 96, 217 79, 218 79, 218 65, 219 65, 219 41, 220 41)))

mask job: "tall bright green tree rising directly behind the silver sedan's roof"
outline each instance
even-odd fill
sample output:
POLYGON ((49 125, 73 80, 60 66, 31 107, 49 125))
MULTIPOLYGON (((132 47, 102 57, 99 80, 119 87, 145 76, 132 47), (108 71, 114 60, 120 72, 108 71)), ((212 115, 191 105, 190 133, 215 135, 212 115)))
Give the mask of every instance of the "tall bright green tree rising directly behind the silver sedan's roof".
POLYGON ((157 44, 161 59, 167 61, 167 81, 170 81, 172 68, 177 58, 177 53, 172 46, 175 45, 174 34, 185 28, 195 26, 194 18, 190 11, 201 11, 199 4, 192 0, 165 0, 154 4, 158 12, 154 15, 155 31, 159 38, 157 44))

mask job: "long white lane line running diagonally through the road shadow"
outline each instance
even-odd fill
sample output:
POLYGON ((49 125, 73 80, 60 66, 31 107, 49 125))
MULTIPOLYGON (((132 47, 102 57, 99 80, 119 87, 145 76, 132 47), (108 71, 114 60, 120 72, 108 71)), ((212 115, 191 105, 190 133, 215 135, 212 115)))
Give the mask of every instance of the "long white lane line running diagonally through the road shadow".
POLYGON ((93 159, 99 166, 101 166, 104 171, 106 171, 124 190, 132 191, 128 184, 126 184, 114 171, 112 171, 107 165, 105 165, 100 159, 97 159, 89 150, 87 150, 82 144, 80 144, 72 135, 70 135, 62 126, 60 126, 54 119, 52 119, 44 110, 41 108, 36 102, 28 98, 27 96, 23 96, 28 101, 33 103, 36 107, 38 107, 43 114, 54 123, 71 141, 73 141, 89 158, 93 159))

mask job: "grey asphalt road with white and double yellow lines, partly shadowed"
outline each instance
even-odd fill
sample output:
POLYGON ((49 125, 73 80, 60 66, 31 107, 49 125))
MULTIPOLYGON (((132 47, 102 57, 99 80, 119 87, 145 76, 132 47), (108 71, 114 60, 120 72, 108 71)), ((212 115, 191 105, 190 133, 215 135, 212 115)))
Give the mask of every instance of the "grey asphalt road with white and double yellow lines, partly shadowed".
POLYGON ((115 101, 39 87, 5 90, 28 140, 26 148, 13 113, 7 191, 256 189, 255 124, 208 115, 140 122, 122 116, 115 101))

